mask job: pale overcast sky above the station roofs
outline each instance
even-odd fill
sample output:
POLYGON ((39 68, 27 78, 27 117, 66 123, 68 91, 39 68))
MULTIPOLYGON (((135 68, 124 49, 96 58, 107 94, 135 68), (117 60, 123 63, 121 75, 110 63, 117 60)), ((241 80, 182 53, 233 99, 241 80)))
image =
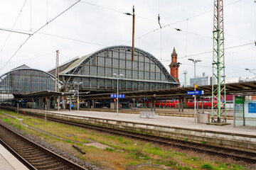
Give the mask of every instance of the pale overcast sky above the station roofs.
MULTIPOLYGON (((254 1, 224 0, 228 81, 255 76, 245 70, 256 69, 254 1)), ((181 84, 183 71, 188 71, 187 84, 193 78, 193 62, 188 60, 191 57, 202 60, 196 64, 197 76, 202 76, 203 72, 212 76, 213 0, 82 0, 68 11, 65 9, 75 0, 0 2, 1 29, 34 33, 48 23, 30 38, 0 30, 0 74, 21 64, 47 71, 55 67, 56 50, 60 50, 61 64, 103 47, 132 46, 132 16, 124 13, 132 13, 134 5, 135 47, 154 55, 168 71, 175 47, 178 62, 182 63, 179 67, 181 84), (65 13, 58 16, 63 11, 65 13), (157 21, 159 14, 161 29, 157 21), (51 21, 53 18, 55 20, 51 21)))

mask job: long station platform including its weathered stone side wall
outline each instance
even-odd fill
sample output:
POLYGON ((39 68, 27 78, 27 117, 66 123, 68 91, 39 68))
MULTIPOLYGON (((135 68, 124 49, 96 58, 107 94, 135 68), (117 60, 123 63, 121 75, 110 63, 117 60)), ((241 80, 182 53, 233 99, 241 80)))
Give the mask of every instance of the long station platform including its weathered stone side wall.
MULTIPOLYGON (((21 111, 45 114, 38 109, 21 111)), ((168 136, 191 142, 207 142, 210 145, 221 145, 236 149, 256 152, 256 126, 206 125, 196 123, 194 118, 156 115, 154 118, 139 118, 139 114, 112 113, 99 111, 46 111, 47 116, 73 120, 111 128, 120 128, 155 135, 168 136)))

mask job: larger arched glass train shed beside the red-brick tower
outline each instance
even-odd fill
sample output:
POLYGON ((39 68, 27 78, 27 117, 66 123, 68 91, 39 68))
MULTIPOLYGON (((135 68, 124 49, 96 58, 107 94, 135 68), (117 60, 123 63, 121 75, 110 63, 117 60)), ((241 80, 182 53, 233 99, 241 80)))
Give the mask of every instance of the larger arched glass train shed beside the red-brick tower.
POLYGON ((84 91, 115 91, 117 77, 120 91, 146 91, 154 89, 171 89, 178 82, 171 77, 163 64, 153 55, 139 48, 112 46, 91 53, 76 60, 60 72, 60 80, 70 87, 73 82, 82 82, 84 91))

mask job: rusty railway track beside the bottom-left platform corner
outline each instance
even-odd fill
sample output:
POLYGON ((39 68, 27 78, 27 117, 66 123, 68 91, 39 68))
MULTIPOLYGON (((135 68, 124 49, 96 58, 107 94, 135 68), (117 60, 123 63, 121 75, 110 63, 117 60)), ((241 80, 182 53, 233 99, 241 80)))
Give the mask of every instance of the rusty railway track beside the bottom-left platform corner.
POLYGON ((84 169, 0 124, 0 142, 28 169, 84 169))

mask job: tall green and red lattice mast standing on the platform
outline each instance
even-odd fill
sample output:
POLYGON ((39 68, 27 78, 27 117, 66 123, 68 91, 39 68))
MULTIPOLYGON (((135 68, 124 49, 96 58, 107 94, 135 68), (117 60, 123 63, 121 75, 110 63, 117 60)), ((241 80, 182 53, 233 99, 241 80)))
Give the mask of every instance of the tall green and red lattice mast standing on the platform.
POLYGON ((212 122, 226 122, 223 0, 214 0, 212 122), (214 81, 217 81, 214 85, 214 81), (217 100, 218 103, 213 101, 217 100), (224 119, 221 120, 220 116, 224 119), (215 120, 214 116, 217 116, 215 120))

